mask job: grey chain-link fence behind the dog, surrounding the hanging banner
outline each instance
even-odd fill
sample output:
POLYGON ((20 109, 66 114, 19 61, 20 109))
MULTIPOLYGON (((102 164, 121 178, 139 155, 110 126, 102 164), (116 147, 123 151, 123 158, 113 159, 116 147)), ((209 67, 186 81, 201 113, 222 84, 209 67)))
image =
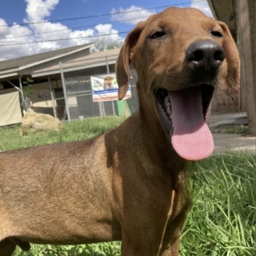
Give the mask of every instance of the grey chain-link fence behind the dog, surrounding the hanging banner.
POLYGON ((58 108, 63 108, 66 105, 67 119, 76 120, 90 117, 125 115, 127 113, 132 114, 138 109, 138 97, 135 89, 137 74, 135 69, 131 69, 130 86, 132 97, 121 102, 118 100, 95 102, 91 78, 102 75, 115 76, 115 65, 106 63, 106 66, 62 72, 64 95, 61 95, 62 91, 55 91, 55 96, 58 108))

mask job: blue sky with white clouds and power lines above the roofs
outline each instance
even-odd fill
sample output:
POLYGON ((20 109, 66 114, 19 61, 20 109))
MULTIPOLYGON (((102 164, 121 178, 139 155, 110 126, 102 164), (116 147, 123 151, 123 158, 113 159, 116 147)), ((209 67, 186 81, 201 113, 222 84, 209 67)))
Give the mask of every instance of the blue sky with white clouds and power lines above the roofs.
POLYGON ((0 60, 90 43, 102 38, 105 42, 122 42, 126 35, 123 33, 131 30, 138 21, 161 12, 164 6, 173 5, 196 7, 211 15, 206 0, 0 1, 0 60), (102 17, 86 18, 93 15, 102 17), (100 38, 99 35, 104 36, 100 38))

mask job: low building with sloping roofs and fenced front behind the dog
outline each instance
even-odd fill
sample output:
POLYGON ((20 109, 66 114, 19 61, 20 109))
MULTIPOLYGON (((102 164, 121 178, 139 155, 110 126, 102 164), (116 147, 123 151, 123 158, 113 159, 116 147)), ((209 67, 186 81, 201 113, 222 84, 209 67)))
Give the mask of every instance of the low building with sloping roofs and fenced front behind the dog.
MULTIPOLYGON (((62 120, 122 115, 125 102, 94 102, 91 88, 92 76, 115 77, 115 62, 120 49, 90 54, 92 46, 93 44, 73 46, 0 62, 2 86, 0 93, 4 94, 2 102, 4 98, 7 100, 7 94, 11 92, 16 97, 15 109, 9 106, 11 105, 9 95, 9 105, 5 103, 5 110, 0 116, 14 117, 20 112, 19 104, 17 105, 18 92, 22 102, 21 109, 24 111, 28 107, 25 106, 26 95, 24 97, 28 83, 31 87, 31 95, 29 95, 31 108, 39 113, 51 114, 62 120)), ((131 106, 129 111, 135 111, 137 109, 135 79, 132 80, 131 90, 133 98, 128 101, 131 106)), ((21 116, 18 116, 14 120, 8 118, 8 121, 2 121, 2 123, 0 121, 0 126, 19 123, 21 116)))

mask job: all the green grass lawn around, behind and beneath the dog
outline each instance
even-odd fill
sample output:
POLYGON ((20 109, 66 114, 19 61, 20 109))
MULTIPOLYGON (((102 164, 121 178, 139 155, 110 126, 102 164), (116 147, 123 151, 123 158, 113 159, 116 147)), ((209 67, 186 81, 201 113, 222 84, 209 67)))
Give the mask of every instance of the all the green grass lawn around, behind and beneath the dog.
MULTIPOLYGON (((53 142, 84 140, 119 125, 122 118, 87 119, 65 123, 61 132, 20 137, 20 127, 0 128, 0 151, 53 142)), ((255 255, 255 155, 213 155, 193 165, 190 187, 193 206, 182 231, 180 255, 255 255)), ((14 255, 121 255, 121 243, 77 246, 31 245, 14 255)), ((146 256, 146 255, 145 255, 146 256)))

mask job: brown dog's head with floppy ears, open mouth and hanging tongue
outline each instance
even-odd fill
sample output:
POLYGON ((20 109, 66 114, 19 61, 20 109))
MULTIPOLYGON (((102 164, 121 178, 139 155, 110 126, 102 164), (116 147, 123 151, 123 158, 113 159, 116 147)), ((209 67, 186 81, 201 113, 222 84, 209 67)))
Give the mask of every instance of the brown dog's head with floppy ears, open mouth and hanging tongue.
POLYGON ((227 86, 230 97, 239 100, 239 55, 225 23, 175 7, 140 22, 127 35, 116 63, 119 99, 130 83, 130 63, 137 70, 140 102, 155 106, 177 153, 187 159, 209 156, 212 137, 202 138, 210 136, 205 121, 214 88, 227 86), (191 152, 188 145, 195 141, 194 151, 201 147, 201 153, 191 152))

